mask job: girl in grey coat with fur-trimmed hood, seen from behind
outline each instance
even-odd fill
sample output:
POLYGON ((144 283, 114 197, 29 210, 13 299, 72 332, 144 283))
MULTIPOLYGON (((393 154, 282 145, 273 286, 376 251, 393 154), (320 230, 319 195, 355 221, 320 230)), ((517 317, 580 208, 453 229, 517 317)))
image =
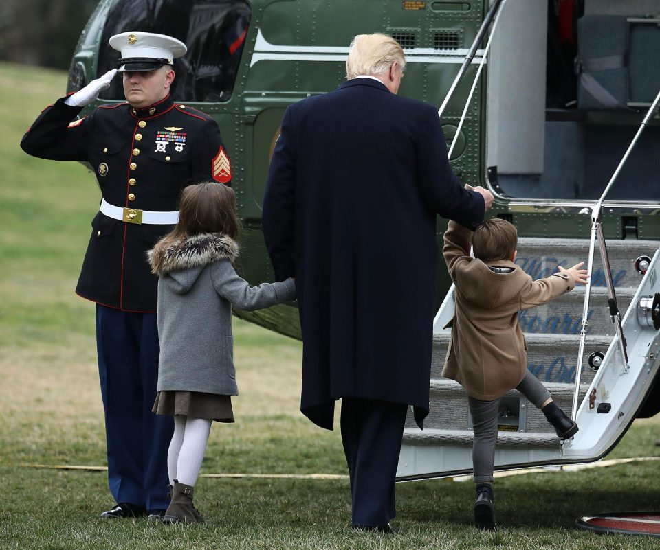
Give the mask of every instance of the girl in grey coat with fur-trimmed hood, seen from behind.
POLYGON ((236 198, 221 183, 189 185, 179 222, 149 252, 158 280, 157 396, 153 412, 174 417, 167 464, 172 499, 164 523, 202 523, 192 505, 211 422, 234 422, 238 395, 232 305, 267 308, 296 297, 294 280, 250 286, 234 270, 236 198))

